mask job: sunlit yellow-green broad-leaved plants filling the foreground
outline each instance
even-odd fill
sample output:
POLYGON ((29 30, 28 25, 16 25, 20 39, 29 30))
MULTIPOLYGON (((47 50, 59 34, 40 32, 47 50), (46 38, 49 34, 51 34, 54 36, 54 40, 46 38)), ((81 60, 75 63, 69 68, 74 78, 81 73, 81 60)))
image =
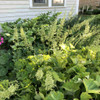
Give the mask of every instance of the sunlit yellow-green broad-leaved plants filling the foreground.
MULTIPOLYGON (((71 44, 60 47, 61 50, 54 50, 51 56, 28 56, 15 63, 14 71, 21 88, 25 93, 34 94, 32 97, 36 100, 49 100, 52 93, 56 98, 61 95, 67 100, 80 98, 82 92, 82 99, 84 94, 87 94, 86 98, 94 98, 91 93, 99 94, 100 91, 98 54, 86 48, 75 49, 71 44)), ((23 91, 20 92, 22 96, 23 91)))

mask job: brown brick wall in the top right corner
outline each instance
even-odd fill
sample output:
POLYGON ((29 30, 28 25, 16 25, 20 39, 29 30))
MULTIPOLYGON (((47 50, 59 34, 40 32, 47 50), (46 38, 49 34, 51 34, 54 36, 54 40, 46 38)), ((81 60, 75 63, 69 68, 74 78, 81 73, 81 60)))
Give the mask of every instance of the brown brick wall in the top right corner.
POLYGON ((100 5, 100 0, 80 0, 79 7, 83 6, 92 6, 92 8, 96 8, 97 6, 100 5))

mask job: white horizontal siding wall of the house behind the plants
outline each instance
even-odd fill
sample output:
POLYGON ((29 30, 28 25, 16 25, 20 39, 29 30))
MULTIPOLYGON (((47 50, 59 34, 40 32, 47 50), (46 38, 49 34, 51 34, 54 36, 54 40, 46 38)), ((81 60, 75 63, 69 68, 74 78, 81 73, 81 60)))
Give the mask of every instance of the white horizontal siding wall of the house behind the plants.
POLYGON ((46 13, 48 11, 62 12, 59 17, 63 17, 65 11, 67 11, 68 16, 72 8, 74 8, 74 14, 77 14, 78 1, 66 0, 66 7, 30 8, 30 0, 0 0, 0 23, 15 21, 18 18, 34 18, 40 13, 46 13))

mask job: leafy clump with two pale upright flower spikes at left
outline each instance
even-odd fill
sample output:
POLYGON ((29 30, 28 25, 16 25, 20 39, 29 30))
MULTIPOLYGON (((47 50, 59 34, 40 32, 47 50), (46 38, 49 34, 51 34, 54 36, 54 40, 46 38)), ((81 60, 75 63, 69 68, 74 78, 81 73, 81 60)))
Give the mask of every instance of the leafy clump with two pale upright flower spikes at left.
POLYGON ((13 61, 16 61, 22 57, 30 55, 33 51, 32 42, 34 38, 29 35, 26 35, 23 28, 20 28, 20 32, 15 29, 14 34, 12 35, 9 41, 12 42, 10 45, 13 50, 13 61))

